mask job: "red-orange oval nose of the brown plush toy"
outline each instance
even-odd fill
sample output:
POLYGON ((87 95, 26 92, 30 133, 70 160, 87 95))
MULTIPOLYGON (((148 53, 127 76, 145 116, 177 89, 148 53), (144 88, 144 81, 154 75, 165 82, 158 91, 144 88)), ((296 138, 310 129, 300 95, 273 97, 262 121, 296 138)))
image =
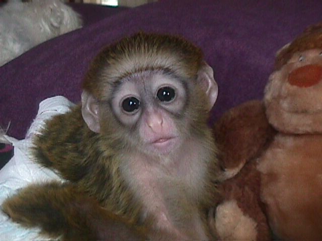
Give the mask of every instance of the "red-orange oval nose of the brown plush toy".
POLYGON ((293 70, 288 76, 288 82, 301 88, 317 84, 322 78, 322 66, 317 64, 304 65, 293 70))

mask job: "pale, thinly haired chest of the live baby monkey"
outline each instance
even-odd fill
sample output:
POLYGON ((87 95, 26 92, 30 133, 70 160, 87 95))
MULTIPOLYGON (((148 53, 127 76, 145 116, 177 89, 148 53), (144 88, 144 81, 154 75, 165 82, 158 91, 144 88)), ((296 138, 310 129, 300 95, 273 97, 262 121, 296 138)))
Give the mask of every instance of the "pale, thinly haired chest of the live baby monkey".
POLYGON ((141 220, 152 218, 160 229, 180 229, 184 224, 194 232, 202 232, 198 205, 205 192, 207 166, 197 166, 194 160, 208 156, 199 153, 200 146, 189 150, 179 160, 145 163, 140 154, 126 158, 128 165, 122 171, 129 187, 136 190, 135 199, 143 206, 141 220))

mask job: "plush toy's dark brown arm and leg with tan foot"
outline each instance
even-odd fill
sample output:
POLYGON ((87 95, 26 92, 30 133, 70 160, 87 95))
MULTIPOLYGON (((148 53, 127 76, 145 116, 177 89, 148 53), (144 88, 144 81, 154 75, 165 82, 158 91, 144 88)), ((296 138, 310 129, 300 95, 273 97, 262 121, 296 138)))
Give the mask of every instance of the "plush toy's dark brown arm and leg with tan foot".
POLYGON ((213 130, 228 178, 220 185, 224 201, 215 216, 220 239, 271 240, 256 158, 276 131, 267 121, 263 102, 249 101, 230 109, 213 130))

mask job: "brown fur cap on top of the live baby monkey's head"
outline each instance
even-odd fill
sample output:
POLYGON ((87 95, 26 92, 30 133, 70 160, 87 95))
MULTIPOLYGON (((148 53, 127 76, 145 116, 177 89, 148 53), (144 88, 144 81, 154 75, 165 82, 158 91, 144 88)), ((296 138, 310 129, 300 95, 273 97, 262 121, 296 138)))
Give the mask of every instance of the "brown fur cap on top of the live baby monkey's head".
POLYGON ((182 37, 139 32, 105 47, 98 54, 85 76, 83 89, 101 99, 102 90, 109 85, 147 70, 195 78, 202 61, 201 49, 182 37))

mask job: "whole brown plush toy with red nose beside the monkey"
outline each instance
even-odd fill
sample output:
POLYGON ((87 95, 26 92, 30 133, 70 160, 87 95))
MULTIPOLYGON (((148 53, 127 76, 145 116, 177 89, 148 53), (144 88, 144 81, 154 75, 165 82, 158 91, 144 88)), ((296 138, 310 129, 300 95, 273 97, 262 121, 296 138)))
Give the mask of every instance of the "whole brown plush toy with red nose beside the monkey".
POLYGON ((264 105, 244 103, 216 124, 232 177, 215 216, 222 239, 269 240, 269 223, 274 239, 322 240, 321 80, 319 24, 277 53, 264 105))

